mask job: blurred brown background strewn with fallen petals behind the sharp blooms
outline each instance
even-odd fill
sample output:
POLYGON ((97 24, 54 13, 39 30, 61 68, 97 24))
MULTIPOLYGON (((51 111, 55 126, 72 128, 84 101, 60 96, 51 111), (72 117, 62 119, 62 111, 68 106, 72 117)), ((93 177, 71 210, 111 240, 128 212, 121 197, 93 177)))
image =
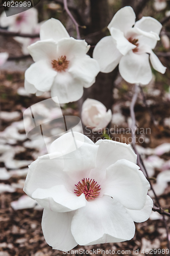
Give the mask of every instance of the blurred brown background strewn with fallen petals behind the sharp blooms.
MULTIPOLYGON (((154 52, 167 70, 164 75, 153 70, 152 81, 140 88, 135 105, 138 127, 136 143, 161 207, 170 212, 170 1, 68 0, 67 3, 71 14, 80 25, 81 39, 91 45, 88 52, 90 56, 96 43, 109 35, 107 26, 113 15, 124 6, 133 7, 136 20, 142 16, 151 16, 163 25, 161 39, 154 52)), ((39 39, 40 26, 44 20, 57 18, 70 36, 76 38, 77 33, 74 23, 64 10, 63 0, 41 0, 34 9, 36 10, 32 8, 29 11, 34 17, 32 23, 35 26, 30 23, 29 31, 24 28, 17 30, 15 22, 18 16, 8 17, 10 22, 4 24, 4 8, 0 2, 0 256, 63 255, 63 252, 53 250, 46 244, 41 230, 43 209, 22 190, 28 172, 27 166, 38 156, 47 153, 43 140, 37 143, 27 138, 23 112, 29 106, 51 97, 48 92, 41 96, 28 94, 24 88, 24 78, 26 69, 33 63, 27 47, 39 39), (19 37, 17 33, 29 33, 33 36, 19 37), (1 53, 5 53, 2 59, 1 53)), ((90 88, 84 89, 79 102, 61 104, 61 109, 63 115, 80 117, 84 100, 99 100, 107 110, 112 111, 112 120, 107 132, 95 135, 93 141, 106 138, 131 143, 131 140, 128 140, 131 135, 126 131, 132 122, 129 111, 132 96, 133 85, 123 80, 116 68, 109 74, 99 73, 96 82, 90 88), (109 130, 111 128, 112 130, 109 130)), ((40 116, 45 115, 47 118, 52 114, 53 118, 57 118, 59 113, 57 109, 53 113, 49 112, 43 103, 38 105, 36 111, 40 116)), ((86 133, 84 130, 84 134, 86 133)), ((149 193, 154 199, 153 192, 149 193)), ((153 211, 147 222, 135 223, 136 233, 131 241, 77 246, 74 251, 80 248, 100 248, 115 252, 124 250, 124 255, 128 255, 126 250, 130 250, 130 254, 135 255, 134 250, 138 250, 136 254, 145 255, 142 252, 145 249, 167 249, 167 240, 170 240, 169 220, 170 218, 165 216, 163 221, 162 215, 153 211)), ((74 254, 76 253, 75 251, 74 254)), ((153 254, 163 253, 157 250, 153 254)))

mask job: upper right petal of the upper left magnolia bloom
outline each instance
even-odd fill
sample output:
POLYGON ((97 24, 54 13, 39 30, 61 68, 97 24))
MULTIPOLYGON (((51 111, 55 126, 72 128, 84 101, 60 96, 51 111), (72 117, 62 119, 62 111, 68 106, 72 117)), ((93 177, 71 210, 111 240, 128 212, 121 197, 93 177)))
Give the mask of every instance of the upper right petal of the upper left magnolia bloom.
POLYGON ((85 40, 77 40, 73 37, 63 38, 57 44, 57 52, 60 56, 65 55, 67 59, 72 59, 76 56, 81 58, 88 52, 89 48, 90 46, 85 40))

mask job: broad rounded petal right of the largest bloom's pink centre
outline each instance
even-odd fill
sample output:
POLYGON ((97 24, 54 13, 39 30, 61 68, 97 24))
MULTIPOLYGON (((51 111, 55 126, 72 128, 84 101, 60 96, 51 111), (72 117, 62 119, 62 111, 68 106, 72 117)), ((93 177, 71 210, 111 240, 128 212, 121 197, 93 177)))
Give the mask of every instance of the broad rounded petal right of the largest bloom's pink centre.
POLYGON ((121 159, 106 170, 104 194, 114 198, 128 209, 144 207, 150 184, 139 166, 121 159))

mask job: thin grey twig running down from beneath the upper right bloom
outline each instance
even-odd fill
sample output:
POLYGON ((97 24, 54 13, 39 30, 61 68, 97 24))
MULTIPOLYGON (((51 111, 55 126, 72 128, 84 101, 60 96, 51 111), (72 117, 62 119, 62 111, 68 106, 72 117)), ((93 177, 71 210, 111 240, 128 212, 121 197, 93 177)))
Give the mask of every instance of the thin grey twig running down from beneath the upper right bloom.
MULTIPOLYGON (((138 88, 138 84, 135 84, 135 92, 133 94, 133 97, 132 97, 132 102, 131 102, 131 105, 130 105, 130 114, 131 114, 131 118, 132 118, 132 125, 131 125, 131 134, 132 134, 132 146, 134 148, 134 151, 137 155, 137 164, 139 165, 140 169, 142 170, 142 172, 144 171, 144 173, 147 175, 148 177, 148 173, 147 173, 147 169, 145 168, 142 159, 136 149, 136 145, 135 145, 135 131, 136 131, 136 119, 135 119, 135 111, 134 111, 134 106, 135 106, 135 103, 136 103, 136 100, 137 100, 137 96, 138 96, 138 92, 139 92, 139 88, 138 88)), ((151 185, 151 189, 153 190, 153 193, 154 193, 154 196, 155 196, 155 199, 156 199, 156 202, 158 204, 159 207, 156 207, 154 206, 154 210, 155 211, 160 211, 160 203, 159 203, 159 199, 158 197, 156 196, 156 193, 153 189, 153 186, 152 184, 151 185)), ((167 212, 166 214, 162 214, 162 217, 163 217, 163 222, 164 222, 164 226, 165 226, 165 229, 166 229, 166 238, 167 238, 167 247, 170 251, 170 245, 169 245, 169 239, 168 239, 168 228, 167 228, 167 223, 166 223, 166 220, 165 220, 165 216, 164 215, 167 215, 167 212)), ((170 215, 170 214, 169 214, 170 215)), ((168 215, 168 216, 169 216, 168 215)))

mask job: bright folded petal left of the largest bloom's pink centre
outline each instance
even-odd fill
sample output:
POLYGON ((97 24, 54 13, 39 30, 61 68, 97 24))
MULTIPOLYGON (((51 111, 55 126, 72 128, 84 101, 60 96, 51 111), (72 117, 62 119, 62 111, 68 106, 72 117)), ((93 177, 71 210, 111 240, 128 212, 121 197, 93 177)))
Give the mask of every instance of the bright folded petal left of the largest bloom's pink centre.
POLYGON ((70 193, 65 186, 58 185, 51 188, 37 188, 32 197, 45 209, 66 212, 76 210, 86 205, 84 194, 80 197, 70 193))

